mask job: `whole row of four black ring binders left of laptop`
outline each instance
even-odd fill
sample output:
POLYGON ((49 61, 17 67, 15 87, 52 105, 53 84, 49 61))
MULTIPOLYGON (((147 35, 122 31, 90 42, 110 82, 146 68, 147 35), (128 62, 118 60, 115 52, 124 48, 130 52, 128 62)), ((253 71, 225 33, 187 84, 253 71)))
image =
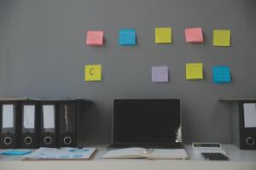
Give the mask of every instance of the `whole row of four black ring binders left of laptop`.
POLYGON ((86 99, 0 99, 0 148, 78 147, 86 99))

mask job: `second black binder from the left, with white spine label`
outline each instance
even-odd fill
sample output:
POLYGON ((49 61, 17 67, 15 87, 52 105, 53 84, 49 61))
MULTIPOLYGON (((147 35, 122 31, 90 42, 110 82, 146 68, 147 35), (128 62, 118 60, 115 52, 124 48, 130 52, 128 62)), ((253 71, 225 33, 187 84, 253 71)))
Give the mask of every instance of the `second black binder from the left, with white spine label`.
POLYGON ((40 108, 36 101, 24 101, 21 105, 21 148, 39 147, 40 108))

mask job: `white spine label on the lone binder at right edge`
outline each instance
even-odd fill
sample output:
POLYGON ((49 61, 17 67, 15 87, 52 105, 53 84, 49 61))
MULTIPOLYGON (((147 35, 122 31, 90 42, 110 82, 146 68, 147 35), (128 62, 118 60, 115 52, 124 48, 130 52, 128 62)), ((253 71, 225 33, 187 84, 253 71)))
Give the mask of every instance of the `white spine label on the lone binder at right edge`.
POLYGON ((244 112, 244 126, 256 127, 256 104, 255 103, 243 104, 243 112, 244 112))

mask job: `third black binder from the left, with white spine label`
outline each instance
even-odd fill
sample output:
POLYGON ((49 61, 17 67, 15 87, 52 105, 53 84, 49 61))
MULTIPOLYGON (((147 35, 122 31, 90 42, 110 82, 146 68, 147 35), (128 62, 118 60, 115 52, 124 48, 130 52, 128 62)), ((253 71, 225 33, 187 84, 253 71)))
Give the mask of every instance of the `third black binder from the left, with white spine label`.
POLYGON ((40 146, 55 148, 57 147, 57 102, 42 101, 40 107, 40 146))

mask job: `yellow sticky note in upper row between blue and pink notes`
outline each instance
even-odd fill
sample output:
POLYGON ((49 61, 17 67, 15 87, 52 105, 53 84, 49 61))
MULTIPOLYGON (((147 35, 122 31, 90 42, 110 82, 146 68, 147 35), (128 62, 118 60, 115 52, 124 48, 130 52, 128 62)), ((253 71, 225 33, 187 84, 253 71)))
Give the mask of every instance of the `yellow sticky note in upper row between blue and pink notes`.
POLYGON ((172 28, 154 28, 154 40, 155 43, 172 43, 172 28))

